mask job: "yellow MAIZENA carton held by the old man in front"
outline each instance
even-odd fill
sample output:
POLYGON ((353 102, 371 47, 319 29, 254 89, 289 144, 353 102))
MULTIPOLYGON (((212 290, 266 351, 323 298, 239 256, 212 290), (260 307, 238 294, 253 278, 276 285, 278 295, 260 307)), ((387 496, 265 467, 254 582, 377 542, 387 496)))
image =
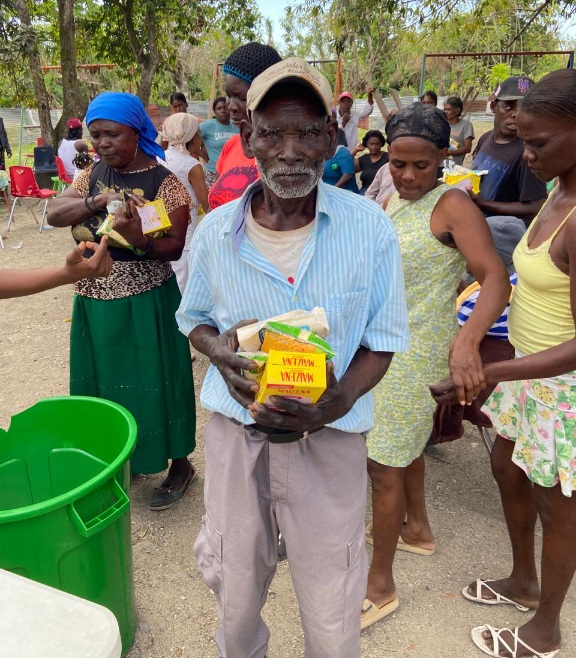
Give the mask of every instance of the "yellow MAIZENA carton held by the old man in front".
POLYGON ((256 402, 273 395, 314 404, 326 390, 326 355, 270 350, 256 402))

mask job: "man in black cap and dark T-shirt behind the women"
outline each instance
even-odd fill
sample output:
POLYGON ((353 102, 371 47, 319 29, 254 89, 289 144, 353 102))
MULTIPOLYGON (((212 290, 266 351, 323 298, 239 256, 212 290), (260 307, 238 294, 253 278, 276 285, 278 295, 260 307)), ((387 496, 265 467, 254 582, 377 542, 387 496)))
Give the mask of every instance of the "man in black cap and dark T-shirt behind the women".
POLYGON ((470 196, 486 216, 519 217, 528 224, 546 199, 546 185, 530 171, 522 157, 524 147, 516 129, 522 98, 534 81, 513 75, 504 80, 490 107, 494 129, 478 140, 472 169, 486 170, 480 194, 470 196))

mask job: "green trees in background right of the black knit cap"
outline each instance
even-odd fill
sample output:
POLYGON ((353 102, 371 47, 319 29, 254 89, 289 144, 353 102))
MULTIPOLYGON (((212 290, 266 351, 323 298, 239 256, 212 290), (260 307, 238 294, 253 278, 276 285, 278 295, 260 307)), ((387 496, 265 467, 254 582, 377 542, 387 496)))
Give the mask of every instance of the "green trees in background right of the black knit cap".
MULTIPOLYGON (((286 13, 286 42, 309 58, 343 58, 344 85, 418 92, 424 53, 559 50, 559 27, 576 3, 566 0, 307 0, 286 13), (307 54, 305 54, 307 53, 307 54)), ((438 93, 493 89, 492 68, 534 77, 566 65, 566 57, 430 58, 426 80, 438 93)))

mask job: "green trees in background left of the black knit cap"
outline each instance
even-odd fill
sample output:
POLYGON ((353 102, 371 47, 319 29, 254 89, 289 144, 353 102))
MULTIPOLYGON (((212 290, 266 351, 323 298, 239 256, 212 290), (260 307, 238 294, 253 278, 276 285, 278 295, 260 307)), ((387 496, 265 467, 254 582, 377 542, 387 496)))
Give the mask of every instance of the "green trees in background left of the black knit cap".
MULTIPOLYGON (((259 38, 260 21, 255 0, 0 0, 0 105, 37 106, 49 117, 50 107, 68 102, 72 115, 83 116, 105 89, 137 92, 144 102, 166 102, 175 88, 205 97, 214 63, 259 38), (205 44, 213 56, 208 76, 188 61, 205 44), (115 68, 77 70, 77 63, 115 68)), ((51 130, 43 121, 47 143, 57 137, 51 130)))

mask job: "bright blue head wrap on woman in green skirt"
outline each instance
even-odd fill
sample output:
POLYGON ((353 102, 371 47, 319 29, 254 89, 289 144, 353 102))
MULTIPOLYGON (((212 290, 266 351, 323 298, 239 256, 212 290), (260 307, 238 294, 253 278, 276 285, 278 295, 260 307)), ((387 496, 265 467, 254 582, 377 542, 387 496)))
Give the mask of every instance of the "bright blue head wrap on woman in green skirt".
POLYGON ((86 113, 86 125, 89 127, 92 121, 104 119, 116 121, 125 126, 130 126, 138 131, 138 148, 151 158, 159 156, 164 159, 164 151, 155 139, 158 131, 146 114, 144 105, 138 96, 123 94, 116 91, 105 91, 88 105, 86 113))

